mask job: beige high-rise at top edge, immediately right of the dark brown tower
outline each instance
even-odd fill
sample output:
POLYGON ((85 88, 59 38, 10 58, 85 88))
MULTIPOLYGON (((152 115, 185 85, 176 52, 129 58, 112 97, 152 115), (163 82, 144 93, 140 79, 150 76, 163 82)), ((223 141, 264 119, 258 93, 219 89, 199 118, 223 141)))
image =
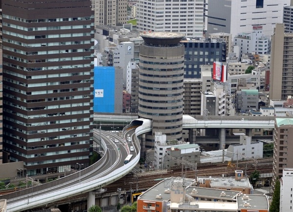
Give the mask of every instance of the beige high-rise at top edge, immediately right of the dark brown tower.
POLYGON ((121 26, 127 22, 127 0, 91 0, 95 25, 121 26))

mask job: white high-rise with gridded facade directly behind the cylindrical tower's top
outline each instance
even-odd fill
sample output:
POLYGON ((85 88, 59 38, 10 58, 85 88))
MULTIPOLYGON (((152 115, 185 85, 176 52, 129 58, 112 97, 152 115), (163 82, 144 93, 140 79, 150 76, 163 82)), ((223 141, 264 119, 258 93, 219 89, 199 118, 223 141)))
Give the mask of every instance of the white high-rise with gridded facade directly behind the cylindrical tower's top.
POLYGON ((202 38, 205 0, 138 0, 137 30, 165 31, 202 38))

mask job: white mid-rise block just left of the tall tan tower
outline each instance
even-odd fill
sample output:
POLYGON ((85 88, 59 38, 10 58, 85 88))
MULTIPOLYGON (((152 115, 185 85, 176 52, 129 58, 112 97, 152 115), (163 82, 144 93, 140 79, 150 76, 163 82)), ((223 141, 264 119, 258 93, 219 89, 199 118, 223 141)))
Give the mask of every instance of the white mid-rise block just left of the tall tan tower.
POLYGON ((255 52, 264 55, 270 53, 270 39, 262 34, 262 26, 253 26, 252 33, 239 33, 234 37, 234 45, 239 46, 240 55, 255 52), (258 29, 257 29, 258 28, 258 29))

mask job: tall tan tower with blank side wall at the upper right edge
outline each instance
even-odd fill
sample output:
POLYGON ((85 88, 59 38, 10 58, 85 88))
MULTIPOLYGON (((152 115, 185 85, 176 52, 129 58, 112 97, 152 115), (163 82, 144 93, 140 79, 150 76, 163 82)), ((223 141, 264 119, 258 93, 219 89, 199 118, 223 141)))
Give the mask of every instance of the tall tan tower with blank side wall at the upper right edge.
POLYGON ((277 23, 272 35, 270 99, 287 99, 293 94, 293 34, 277 23))

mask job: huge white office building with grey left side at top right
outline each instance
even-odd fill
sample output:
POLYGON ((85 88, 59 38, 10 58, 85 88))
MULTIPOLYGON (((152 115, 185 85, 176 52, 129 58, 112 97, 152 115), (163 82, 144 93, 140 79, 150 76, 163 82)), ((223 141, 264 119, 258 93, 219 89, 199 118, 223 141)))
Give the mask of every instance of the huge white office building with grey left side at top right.
POLYGON ((272 35, 275 23, 283 22, 283 8, 290 0, 209 0, 208 34, 249 33, 254 25, 263 26, 265 36, 272 35))

